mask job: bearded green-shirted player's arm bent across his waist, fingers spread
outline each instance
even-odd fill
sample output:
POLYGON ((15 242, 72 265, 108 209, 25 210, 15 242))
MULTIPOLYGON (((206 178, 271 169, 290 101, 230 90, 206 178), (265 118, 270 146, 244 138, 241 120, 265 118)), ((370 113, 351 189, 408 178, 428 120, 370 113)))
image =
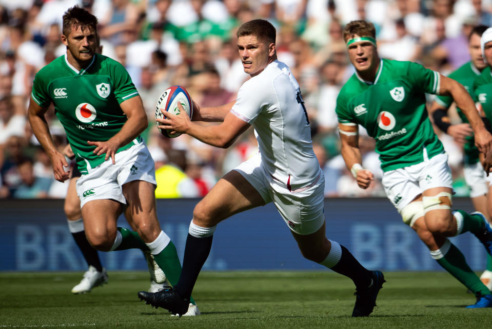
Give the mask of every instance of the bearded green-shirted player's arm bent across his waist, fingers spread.
POLYGON ((149 124, 140 96, 127 99, 120 107, 128 118, 121 130, 107 141, 87 141, 89 145, 96 147, 92 151, 94 154, 106 154, 105 160, 111 158, 113 165, 116 151, 138 137, 149 124))

